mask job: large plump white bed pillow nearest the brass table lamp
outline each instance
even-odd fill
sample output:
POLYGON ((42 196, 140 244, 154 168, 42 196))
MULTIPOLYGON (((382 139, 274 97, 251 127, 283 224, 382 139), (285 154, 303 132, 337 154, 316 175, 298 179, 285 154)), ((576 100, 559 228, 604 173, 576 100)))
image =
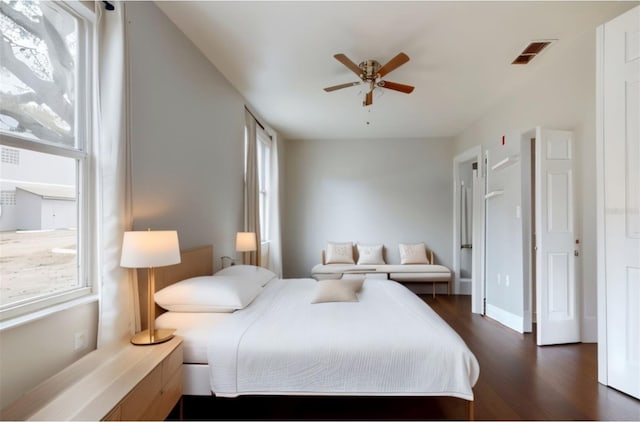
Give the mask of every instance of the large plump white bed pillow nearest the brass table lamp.
POLYGON ((179 281, 157 291, 154 298, 168 311, 233 312, 245 308, 261 291, 253 280, 213 275, 179 281))

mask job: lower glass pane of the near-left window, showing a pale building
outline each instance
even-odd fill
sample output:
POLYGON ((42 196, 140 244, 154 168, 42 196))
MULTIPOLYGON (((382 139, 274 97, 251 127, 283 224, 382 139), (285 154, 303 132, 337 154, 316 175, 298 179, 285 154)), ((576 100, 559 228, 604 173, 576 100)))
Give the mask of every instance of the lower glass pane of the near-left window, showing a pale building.
POLYGON ((0 216, 0 305, 78 287, 76 160, 17 150, 20 164, 3 163, 0 216))

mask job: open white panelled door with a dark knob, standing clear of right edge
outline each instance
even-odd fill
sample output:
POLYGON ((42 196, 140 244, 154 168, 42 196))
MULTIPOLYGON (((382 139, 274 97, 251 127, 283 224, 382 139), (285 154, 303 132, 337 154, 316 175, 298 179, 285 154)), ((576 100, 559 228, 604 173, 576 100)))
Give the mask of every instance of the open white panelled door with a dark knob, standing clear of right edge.
POLYGON ((573 136, 536 130, 538 345, 580 341, 573 210, 573 136))

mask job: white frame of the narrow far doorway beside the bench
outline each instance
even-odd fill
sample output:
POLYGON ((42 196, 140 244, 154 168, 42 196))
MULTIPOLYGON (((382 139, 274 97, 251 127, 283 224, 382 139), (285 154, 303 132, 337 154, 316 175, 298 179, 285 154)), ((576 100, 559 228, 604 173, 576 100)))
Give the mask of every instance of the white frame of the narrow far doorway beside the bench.
MULTIPOLYGON (((454 294, 471 294, 471 311, 474 313, 482 313, 482 303, 484 298, 481 297, 482 294, 478 294, 478 292, 483 292, 484 291, 484 277, 477 277, 479 274, 478 272, 474 272, 472 271, 471 274, 471 286, 470 286, 470 290, 468 291, 468 288, 466 286, 461 286, 460 285, 460 258, 459 258, 459 253, 460 253, 460 219, 458 218, 458 216, 460 215, 460 192, 459 192, 459 185, 460 185, 460 172, 458 170, 458 167, 460 164, 467 162, 467 161, 471 161, 471 160, 476 160, 478 163, 478 174, 482 175, 484 174, 484 162, 483 162, 483 155, 482 155, 482 147, 480 145, 477 145, 475 147, 469 148, 468 150, 456 155, 453 158, 453 293, 454 294), (478 280, 478 278, 480 278, 478 280)), ((482 196, 484 197, 484 184, 482 184, 482 186, 480 186, 480 188, 483 190, 482 192, 482 196)), ((474 196, 475 196, 475 192, 474 192, 474 196)), ((482 201, 481 203, 479 203, 479 201, 473 201, 473 221, 478 221, 478 219, 475 218, 476 213, 478 212, 482 212, 482 208, 484 207, 484 201, 482 201)), ((484 233, 484 219, 481 220, 482 221, 482 233, 484 233)), ((477 232, 475 227, 473 229, 473 232, 477 232)), ((474 245, 473 245, 473 252, 472 252, 472 266, 475 268, 478 264, 480 264, 480 261, 482 260, 482 257, 484 256, 484 248, 482 248, 482 241, 481 240, 474 240, 474 245)), ((480 274, 481 275, 481 274, 480 274)))

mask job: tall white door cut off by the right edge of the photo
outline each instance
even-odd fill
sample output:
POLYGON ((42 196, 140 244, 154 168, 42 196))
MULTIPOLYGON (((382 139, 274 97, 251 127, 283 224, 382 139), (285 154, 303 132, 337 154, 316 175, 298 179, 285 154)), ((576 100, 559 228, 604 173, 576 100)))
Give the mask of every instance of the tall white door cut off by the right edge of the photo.
POLYGON ((608 384, 640 398, 640 7, 604 25, 603 54, 608 384))

